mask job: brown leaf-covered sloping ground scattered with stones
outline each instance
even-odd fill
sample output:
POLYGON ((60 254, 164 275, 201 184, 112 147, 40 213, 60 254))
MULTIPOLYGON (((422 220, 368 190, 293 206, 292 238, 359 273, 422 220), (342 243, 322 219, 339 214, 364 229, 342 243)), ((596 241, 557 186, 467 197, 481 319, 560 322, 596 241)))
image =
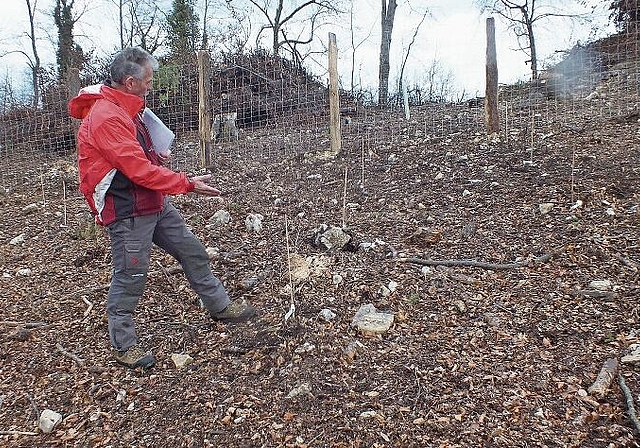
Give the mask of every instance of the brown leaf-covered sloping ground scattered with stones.
MULTIPOLYGON (((638 446, 617 383, 601 399, 585 392, 606 359, 638 342, 638 125, 624 106, 616 119, 598 102, 569 105, 563 119, 554 107, 565 106, 514 108, 499 139, 466 106, 430 106, 410 122, 354 117, 335 160, 315 158, 304 130, 263 130, 253 147, 218 151, 224 200, 174 203, 215 248, 230 293, 259 314, 213 322, 155 252, 137 310, 158 360, 149 371, 111 359, 108 238, 90 225, 73 176, 66 200, 61 178, 47 178, 46 205, 37 181, 4 193, 0 444, 638 446), (219 209, 229 225, 211 225, 219 209), (249 213, 264 216, 261 233, 246 230, 249 213), (344 224, 359 248, 316 246, 321 224, 344 224), (285 321, 288 253, 314 265, 285 321), (595 280, 611 290, 594 291, 595 280), (388 332, 351 326, 367 303, 394 313, 388 332), (321 319, 322 309, 337 317, 321 319), (174 353, 193 364, 177 369, 174 353), (38 430, 44 409, 64 417, 50 434, 38 430)), ((637 397, 640 370, 620 373, 637 397)))

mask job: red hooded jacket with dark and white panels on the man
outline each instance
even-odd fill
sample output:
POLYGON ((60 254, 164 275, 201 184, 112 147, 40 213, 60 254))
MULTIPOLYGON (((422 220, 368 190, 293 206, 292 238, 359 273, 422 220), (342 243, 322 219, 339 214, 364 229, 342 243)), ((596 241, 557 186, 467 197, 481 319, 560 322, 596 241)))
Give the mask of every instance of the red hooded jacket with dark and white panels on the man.
POLYGON ((140 113, 144 99, 91 86, 69 102, 78 131, 80 191, 101 225, 156 213, 165 194, 193 191, 185 173, 161 166, 140 113))

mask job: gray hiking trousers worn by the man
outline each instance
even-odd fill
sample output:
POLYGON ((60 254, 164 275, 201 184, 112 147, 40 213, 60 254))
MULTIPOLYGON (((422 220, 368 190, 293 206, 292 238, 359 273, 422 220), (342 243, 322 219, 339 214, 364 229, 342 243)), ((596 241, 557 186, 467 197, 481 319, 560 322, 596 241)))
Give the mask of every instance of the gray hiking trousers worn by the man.
POLYGON ((127 350, 138 342, 133 312, 147 282, 152 243, 180 262, 207 310, 216 313, 229 304, 224 286, 211 272, 204 246, 168 200, 159 213, 116 221, 107 230, 113 259, 107 316, 111 345, 116 350, 127 350))

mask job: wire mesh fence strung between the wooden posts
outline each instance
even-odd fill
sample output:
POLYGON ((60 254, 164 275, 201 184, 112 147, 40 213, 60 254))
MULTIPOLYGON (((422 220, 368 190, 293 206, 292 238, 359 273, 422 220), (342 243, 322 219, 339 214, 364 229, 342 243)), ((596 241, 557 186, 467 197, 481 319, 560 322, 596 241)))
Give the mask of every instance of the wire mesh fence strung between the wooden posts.
MULTIPOLYGON (((519 151, 523 162, 535 163, 536 151, 548 148, 554 134, 570 137, 596 120, 637 121, 638 43, 638 33, 633 31, 577 46, 539 80, 502 86, 500 133, 494 138, 519 151)), ((262 52, 210 64, 211 122, 206 126, 212 137, 212 166, 203 166, 199 143, 197 62, 162 64, 147 98, 148 106, 176 133, 173 169, 215 170, 224 157, 302 160, 328 149, 326 80, 262 52)), ((99 80, 82 84, 88 82, 99 80)), ((74 135, 78 123, 68 116, 67 102, 77 93, 78 84, 44 83, 41 98, 32 102, 36 106, 5 98, 0 113, 0 186, 6 192, 28 188, 41 190, 43 197, 52 191, 77 194, 74 135)), ((474 144, 486 138, 482 98, 427 103, 410 97, 408 103, 409 111, 401 101, 381 108, 341 94, 344 154, 364 158, 374 150, 392 153, 398 145, 428 145, 459 134, 474 144)), ((363 165, 362 169, 368 168, 363 165)))

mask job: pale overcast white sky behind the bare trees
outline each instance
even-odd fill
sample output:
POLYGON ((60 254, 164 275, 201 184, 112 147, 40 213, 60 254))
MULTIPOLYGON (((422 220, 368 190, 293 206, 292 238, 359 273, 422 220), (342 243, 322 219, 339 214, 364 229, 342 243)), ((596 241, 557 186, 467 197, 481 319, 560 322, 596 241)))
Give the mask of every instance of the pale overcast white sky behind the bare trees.
MULTIPOLYGON (((41 11, 37 15, 41 27, 37 33, 42 35, 42 40, 38 43, 39 52, 45 64, 53 63, 55 56, 51 42, 55 40, 55 27, 45 12, 53 9, 54 1, 31 0, 32 3, 34 1, 37 1, 38 9, 41 11), (47 36, 47 33, 51 33, 51 36, 47 36)), ((158 1, 170 5, 169 0, 158 1)), ((549 1, 552 4, 562 3, 560 0, 549 1)), ((603 3, 602 0, 594 1, 603 3)), ((85 0, 85 3, 89 6, 76 26, 77 40, 85 50, 95 49, 98 54, 110 54, 117 42, 115 8, 108 0, 85 0)), ((82 4, 82 0, 76 0, 77 6, 82 4)), ((363 40, 368 36, 366 42, 356 51, 356 81, 365 88, 375 88, 380 47, 380 0, 353 0, 353 5, 357 39, 363 40)), ((428 9, 428 15, 419 27, 405 69, 406 84, 424 79, 425 69, 436 60, 443 70, 453 73, 457 91, 464 91, 469 97, 483 95, 486 19, 489 15, 483 14, 474 6, 473 0, 398 0, 392 35, 390 89, 391 83, 397 79, 403 55, 425 8, 428 9)), ((48 15, 50 16, 50 13, 48 15)), ((606 6, 600 7, 591 15, 592 24, 599 30, 598 37, 613 32, 611 27, 605 26, 607 17, 606 6)), ((514 34, 508 29, 507 24, 499 17, 495 18, 499 81, 510 84, 529 79, 530 67, 525 63, 528 58, 517 50, 514 34)), ((577 41, 584 43, 590 40, 590 35, 593 36, 591 28, 592 26, 570 21, 540 22, 536 28, 539 60, 544 64, 556 54, 556 51, 569 49, 577 41)), ((0 54, 16 50, 31 54, 30 41, 24 36, 27 29, 25 0, 3 0, 0 15, 0 54)), ((343 88, 349 88, 351 50, 348 19, 343 20, 341 24, 324 26, 317 35, 327 36, 328 32, 334 32, 337 36, 341 85, 343 88)), ((324 39, 326 40, 326 37, 324 39)), ((26 62, 26 58, 18 53, 1 57, 0 78, 9 76, 27 84, 26 62)), ((320 72, 326 67, 326 61, 322 57, 314 56, 309 62, 312 71, 323 75, 320 72)))

